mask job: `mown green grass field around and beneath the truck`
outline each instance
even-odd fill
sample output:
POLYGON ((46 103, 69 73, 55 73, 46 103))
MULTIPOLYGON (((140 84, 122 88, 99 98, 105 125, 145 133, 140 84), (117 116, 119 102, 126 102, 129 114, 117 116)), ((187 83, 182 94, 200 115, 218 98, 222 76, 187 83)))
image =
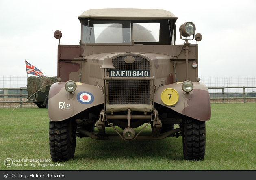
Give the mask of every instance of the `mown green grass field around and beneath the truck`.
POLYGON ((256 170, 256 103, 212 104, 206 155, 199 162, 184 160, 181 137, 130 142, 87 137, 77 138, 73 160, 52 163, 48 110, 11 111, 0 109, 0 170, 256 170), (16 162, 6 167, 7 158, 16 162))

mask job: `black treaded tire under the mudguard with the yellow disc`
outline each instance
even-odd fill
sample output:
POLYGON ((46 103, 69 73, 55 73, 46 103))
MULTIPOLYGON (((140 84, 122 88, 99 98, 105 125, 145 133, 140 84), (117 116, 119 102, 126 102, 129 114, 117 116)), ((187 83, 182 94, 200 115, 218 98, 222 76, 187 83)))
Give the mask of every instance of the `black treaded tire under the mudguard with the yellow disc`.
POLYGON ((187 119, 183 132, 183 155, 186 160, 204 160, 205 122, 187 119))

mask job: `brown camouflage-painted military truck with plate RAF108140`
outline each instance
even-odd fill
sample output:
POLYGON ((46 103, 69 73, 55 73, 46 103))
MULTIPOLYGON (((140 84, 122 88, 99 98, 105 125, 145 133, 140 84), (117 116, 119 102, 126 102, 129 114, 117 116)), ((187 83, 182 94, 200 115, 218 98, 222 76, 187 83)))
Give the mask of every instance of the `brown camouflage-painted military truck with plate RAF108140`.
POLYGON ((59 78, 49 92, 52 160, 74 158, 76 137, 182 137, 184 158, 203 160, 211 108, 198 77, 202 35, 195 24, 180 25, 184 44, 176 45, 178 17, 169 11, 91 9, 78 19, 79 45, 61 45, 61 31, 54 33, 59 78))

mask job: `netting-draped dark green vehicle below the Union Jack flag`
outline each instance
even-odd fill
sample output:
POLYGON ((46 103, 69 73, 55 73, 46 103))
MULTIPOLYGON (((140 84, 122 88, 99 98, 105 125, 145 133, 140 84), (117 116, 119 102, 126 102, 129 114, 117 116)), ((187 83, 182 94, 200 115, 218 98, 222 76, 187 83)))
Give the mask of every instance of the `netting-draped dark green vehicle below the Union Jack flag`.
POLYGON ((28 102, 37 104, 38 108, 48 108, 50 86, 57 82, 57 77, 28 77, 28 102))

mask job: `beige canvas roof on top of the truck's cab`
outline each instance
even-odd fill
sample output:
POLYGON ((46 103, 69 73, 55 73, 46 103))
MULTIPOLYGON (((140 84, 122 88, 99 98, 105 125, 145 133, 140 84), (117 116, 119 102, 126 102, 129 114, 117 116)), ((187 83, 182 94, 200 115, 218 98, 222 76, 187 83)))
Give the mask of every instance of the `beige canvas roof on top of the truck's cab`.
POLYGON ((173 13, 161 9, 90 9, 78 16, 92 19, 113 19, 113 20, 152 20, 152 19, 177 19, 173 13))

